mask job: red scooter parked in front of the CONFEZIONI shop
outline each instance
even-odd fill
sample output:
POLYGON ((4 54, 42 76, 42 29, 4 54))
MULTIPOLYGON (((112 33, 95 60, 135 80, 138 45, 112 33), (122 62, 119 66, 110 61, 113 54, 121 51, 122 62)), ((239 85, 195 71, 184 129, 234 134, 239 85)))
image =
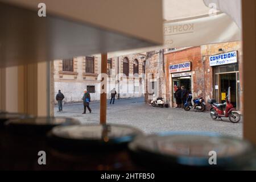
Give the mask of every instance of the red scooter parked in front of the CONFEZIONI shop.
POLYGON ((234 109, 234 106, 229 102, 228 98, 225 98, 225 104, 217 104, 216 100, 209 100, 209 104, 212 106, 210 109, 210 117, 212 119, 229 118, 232 123, 238 123, 241 120, 241 115, 234 109))

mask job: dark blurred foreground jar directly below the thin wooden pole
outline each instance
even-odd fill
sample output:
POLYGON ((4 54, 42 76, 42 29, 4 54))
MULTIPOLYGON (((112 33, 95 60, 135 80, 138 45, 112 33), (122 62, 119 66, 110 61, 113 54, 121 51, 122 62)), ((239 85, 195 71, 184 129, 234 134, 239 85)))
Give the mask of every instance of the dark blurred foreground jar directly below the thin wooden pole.
POLYGON ((48 165, 57 170, 136 169, 127 144, 138 135, 140 130, 123 125, 55 127, 48 134, 48 165))

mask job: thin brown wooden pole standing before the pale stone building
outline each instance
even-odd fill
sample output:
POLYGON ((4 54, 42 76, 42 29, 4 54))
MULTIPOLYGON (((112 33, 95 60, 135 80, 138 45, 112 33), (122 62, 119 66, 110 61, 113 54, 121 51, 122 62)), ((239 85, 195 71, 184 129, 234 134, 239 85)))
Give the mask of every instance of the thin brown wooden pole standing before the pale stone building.
POLYGON ((106 124, 106 106, 107 106, 107 65, 108 65, 108 54, 101 54, 101 104, 100 104, 100 124, 106 124))

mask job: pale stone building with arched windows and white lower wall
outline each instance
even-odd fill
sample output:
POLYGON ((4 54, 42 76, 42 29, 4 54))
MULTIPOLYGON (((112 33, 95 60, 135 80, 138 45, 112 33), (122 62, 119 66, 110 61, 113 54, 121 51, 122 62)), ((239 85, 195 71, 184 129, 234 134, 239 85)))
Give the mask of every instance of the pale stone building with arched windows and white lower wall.
MULTIPOLYGON (((115 88, 118 98, 144 96, 143 70, 146 56, 124 55, 108 59, 108 98, 115 88), (124 73, 125 72, 125 73, 124 73)), ((81 102, 83 90, 92 101, 100 100, 101 56, 80 56, 54 61, 55 94, 63 92, 66 103, 81 102)))

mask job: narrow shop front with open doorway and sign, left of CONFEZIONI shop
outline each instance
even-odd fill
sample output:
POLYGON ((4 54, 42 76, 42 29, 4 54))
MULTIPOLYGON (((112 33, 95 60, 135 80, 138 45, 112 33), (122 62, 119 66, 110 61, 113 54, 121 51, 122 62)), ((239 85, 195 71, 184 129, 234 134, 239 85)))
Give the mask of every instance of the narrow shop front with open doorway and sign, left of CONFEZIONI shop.
POLYGON ((170 65, 170 83, 172 93, 172 106, 176 104, 175 93, 178 86, 184 86, 187 90, 192 90, 191 62, 170 65))

